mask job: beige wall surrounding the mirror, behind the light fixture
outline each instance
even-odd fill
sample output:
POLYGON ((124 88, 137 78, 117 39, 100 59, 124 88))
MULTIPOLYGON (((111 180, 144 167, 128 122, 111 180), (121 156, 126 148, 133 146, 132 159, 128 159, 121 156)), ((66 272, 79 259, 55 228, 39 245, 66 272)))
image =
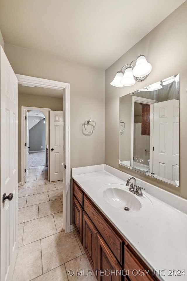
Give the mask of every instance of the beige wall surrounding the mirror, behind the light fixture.
MULTIPOLYGON (((139 41, 105 71, 105 163, 128 172, 160 188, 187 198, 186 186, 186 107, 187 107, 187 1, 139 41), (144 54, 152 64, 152 71, 143 82, 131 87, 116 88, 110 85, 122 66, 144 54), (180 187, 143 175, 120 166, 119 163, 119 97, 154 82, 180 73, 180 187)), ((128 40, 128 39, 127 39, 128 40)))

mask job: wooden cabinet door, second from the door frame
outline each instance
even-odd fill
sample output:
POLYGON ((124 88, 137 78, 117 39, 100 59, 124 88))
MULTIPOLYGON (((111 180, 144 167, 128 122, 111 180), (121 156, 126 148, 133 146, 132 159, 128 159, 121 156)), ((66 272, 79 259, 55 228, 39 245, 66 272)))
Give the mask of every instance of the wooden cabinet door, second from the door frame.
POLYGON ((97 229, 86 215, 83 213, 83 246, 86 255, 91 263, 93 269, 97 268, 96 264, 96 241, 97 229))

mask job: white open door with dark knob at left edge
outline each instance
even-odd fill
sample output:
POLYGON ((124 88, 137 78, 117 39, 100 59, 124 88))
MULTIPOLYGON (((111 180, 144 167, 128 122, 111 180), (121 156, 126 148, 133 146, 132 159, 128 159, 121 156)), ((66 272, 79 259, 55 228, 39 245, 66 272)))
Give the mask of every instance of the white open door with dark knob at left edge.
POLYGON ((1 59, 1 262, 0 280, 11 281, 17 255, 18 80, 0 46, 1 59), (3 203, 3 195, 9 195, 3 203), (12 194, 11 194, 12 193, 12 194), (12 200, 10 201, 13 195, 12 200))

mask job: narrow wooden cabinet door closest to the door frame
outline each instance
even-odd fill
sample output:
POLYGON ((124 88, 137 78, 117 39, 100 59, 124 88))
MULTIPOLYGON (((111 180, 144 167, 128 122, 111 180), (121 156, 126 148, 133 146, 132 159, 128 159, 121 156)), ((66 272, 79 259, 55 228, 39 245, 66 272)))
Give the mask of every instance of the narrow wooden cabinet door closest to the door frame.
POLYGON ((77 199, 75 198, 75 196, 73 196, 73 225, 77 231, 81 243, 82 243, 82 214, 83 214, 82 207, 77 201, 77 199))

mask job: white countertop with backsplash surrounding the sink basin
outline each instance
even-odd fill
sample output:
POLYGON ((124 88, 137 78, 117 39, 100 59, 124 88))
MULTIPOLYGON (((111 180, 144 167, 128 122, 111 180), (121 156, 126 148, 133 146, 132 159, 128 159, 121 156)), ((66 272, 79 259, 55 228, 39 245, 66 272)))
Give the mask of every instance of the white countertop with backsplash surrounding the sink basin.
MULTIPOLYGON (((107 165, 96 165, 72 169, 72 177, 149 268, 160 271, 162 275, 158 277, 160 280, 187 280, 185 199, 137 179, 137 185, 145 187, 146 190, 143 190, 144 196, 134 196, 138 197, 142 205, 144 200, 150 199, 152 208, 146 213, 141 211, 133 214, 125 211, 123 213, 111 208, 99 190, 105 184, 126 185, 128 174, 107 165), (183 270, 186 275, 181 274, 183 270), (174 276, 175 274, 179 276, 174 276)), ((128 191, 127 186, 124 188, 128 191)))

